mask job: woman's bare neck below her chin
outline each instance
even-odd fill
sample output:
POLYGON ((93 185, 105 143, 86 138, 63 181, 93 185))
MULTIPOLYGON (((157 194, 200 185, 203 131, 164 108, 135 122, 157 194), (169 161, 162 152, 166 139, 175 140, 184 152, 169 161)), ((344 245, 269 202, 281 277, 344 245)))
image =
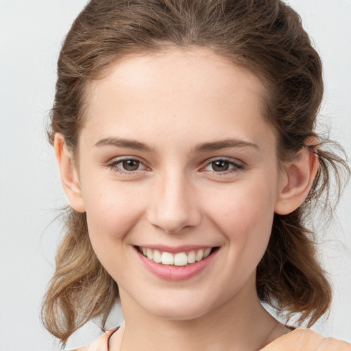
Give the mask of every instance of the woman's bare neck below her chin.
POLYGON ((119 349, 112 340, 110 351, 258 350, 271 341, 269 335, 278 324, 259 302, 252 284, 190 320, 160 318, 141 308, 125 291, 120 293, 125 317, 123 343, 119 349))

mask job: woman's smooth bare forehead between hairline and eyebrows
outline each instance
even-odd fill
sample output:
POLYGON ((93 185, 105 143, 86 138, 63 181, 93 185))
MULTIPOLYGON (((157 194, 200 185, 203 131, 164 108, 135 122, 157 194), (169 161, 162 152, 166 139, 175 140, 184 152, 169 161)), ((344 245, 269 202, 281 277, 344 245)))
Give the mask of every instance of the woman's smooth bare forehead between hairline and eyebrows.
POLYGON ((263 95, 258 77, 210 49, 134 54, 90 84, 83 131, 99 138, 174 138, 175 131, 193 138, 195 130, 204 138, 256 138, 258 125, 268 128, 263 95))

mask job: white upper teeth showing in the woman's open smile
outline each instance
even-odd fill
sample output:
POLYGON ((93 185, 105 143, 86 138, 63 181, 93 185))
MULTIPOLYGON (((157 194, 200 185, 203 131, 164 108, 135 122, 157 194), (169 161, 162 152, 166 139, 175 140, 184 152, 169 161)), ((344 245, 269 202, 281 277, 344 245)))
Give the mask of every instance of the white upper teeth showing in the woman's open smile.
POLYGON ((143 256, 147 257, 150 261, 154 261, 155 263, 160 263, 162 265, 184 267, 186 265, 192 265, 193 263, 204 260, 218 247, 208 247, 206 249, 191 250, 189 252, 178 252, 177 254, 149 249, 148 247, 138 246, 137 248, 143 254, 143 256))

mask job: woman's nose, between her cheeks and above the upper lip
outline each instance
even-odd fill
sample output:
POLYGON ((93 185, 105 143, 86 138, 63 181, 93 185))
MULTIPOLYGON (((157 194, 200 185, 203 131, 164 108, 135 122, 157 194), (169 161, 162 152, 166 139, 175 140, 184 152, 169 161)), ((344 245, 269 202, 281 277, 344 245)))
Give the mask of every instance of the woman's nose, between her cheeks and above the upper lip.
POLYGON ((195 189, 184 175, 160 176, 154 183, 148 221, 167 233, 177 233, 200 223, 195 189))

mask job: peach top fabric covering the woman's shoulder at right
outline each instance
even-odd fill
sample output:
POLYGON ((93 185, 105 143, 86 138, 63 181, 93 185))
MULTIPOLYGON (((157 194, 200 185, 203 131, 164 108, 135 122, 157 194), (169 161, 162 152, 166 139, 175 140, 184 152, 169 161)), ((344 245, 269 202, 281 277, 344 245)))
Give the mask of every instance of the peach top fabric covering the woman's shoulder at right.
POLYGON ((351 345, 332 337, 325 338, 311 329, 297 328, 269 343, 261 351, 351 351, 351 345))

